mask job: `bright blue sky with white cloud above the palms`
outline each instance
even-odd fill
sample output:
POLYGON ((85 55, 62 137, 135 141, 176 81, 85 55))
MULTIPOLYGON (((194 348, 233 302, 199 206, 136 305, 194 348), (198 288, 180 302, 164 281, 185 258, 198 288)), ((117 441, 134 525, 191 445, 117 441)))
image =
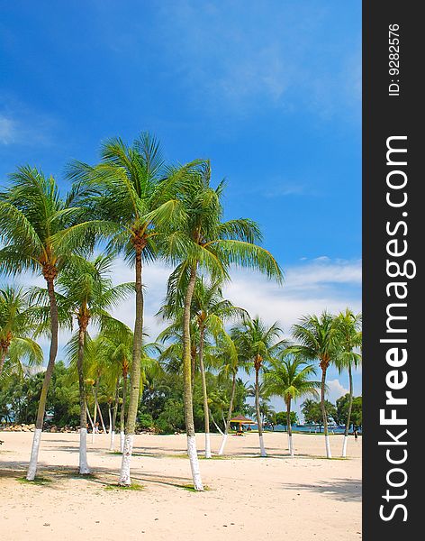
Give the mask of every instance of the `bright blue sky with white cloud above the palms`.
POLYGON ((212 160, 226 215, 256 219, 286 271, 282 292, 237 273, 233 300, 285 331, 361 309, 360 1, 14 1, 0 35, 2 183, 28 162, 65 190, 68 160, 148 130, 168 160, 212 160))

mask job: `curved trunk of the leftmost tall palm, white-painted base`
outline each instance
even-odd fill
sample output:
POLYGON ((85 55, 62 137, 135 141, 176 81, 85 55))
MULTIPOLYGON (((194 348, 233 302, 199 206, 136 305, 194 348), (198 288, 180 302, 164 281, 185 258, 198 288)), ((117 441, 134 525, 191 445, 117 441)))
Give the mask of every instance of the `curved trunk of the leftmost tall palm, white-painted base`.
POLYGON ((43 385, 41 388, 41 396, 39 401, 39 408, 37 410, 37 420, 35 422, 34 438, 32 440, 32 451, 30 458, 30 465, 27 472, 27 480, 33 481, 37 472, 37 460, 39 456, 40 442, 41 442, 41 430, 43 427, 44 413, 46 409, 47 391, 49 389, 51 374, 55 366, 56 355, 58 353, 58 305, 56 304, 54 279, 46 279, 47 289, 50 300, 50 352, 49 362, 44 374, 43 385))

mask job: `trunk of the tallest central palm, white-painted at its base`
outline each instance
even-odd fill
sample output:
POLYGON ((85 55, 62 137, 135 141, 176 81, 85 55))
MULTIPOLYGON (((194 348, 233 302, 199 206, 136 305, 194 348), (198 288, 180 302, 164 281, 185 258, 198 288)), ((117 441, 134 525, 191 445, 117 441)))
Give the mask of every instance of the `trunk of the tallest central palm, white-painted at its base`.
POLYGON ((140 371, 141 371, 141 348, 143 341, 143 290, 141 284, 141 270, 142 270, 142 261, 141 261, 141 252, 142 247, 135 244, 136 250, 136 318, 134 322, 134 338, 133 338, 133 352, 132 352, 132 363, 131 363, 131 388, 130 388, 130 402, 129 402, 129 411, 127 414, 127 422, 125 425, 125 438, 124 438, 124 449, 122 453, 122 465, 121 465, 121 474, 120 480, 118 481, 120 485, 130 486, 131 477, 130 477, 130 463, 131 463, 131 454, 132 446, 134 441, 134 433, 136 431, 136 417, 137 410, 139 408, 139 399, 140 399, 140 371))

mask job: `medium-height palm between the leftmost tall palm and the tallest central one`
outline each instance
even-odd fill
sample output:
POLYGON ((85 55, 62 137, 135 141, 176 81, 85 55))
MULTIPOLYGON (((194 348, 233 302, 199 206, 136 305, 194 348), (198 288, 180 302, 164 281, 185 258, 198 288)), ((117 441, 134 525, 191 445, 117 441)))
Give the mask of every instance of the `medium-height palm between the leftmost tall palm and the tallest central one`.
POLYGON ((80 396, 80 447, 79 472, 90 472, 86 458, 86 389, 84 355, 87 328, 90 324, 107 325, 111 320, 107 310, 116 306, 131 292, 131 283, 113 286, 111 280, 113 256, 98 255, 93 261, 74 256, 68 262, 68 268, 61 273, 57 289, 67 305, 68 312, 77 319, 77 373, 80 396))

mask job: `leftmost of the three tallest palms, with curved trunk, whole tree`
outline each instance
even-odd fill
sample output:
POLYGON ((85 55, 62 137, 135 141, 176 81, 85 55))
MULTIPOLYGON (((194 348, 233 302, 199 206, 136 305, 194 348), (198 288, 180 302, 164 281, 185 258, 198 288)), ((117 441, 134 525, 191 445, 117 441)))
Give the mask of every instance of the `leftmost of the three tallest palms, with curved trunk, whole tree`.
POLYGON ((59 196, 53 177, 41 171, 21 167, 10 175, 10 186, 0 194, 0 272, 16 275, 24 271, 41 273, 50 299, 50 353, 37 412, 32 454, 27 479, 32 481, 46 406, 47 391, 58 352, 58 307, 55 280, 69 256, 82 246, 87 234, 94 234, 104 223, 82 221, 81 209, 68 207, 59 196), (97 227, 95 227, 97 225, 97 227))

